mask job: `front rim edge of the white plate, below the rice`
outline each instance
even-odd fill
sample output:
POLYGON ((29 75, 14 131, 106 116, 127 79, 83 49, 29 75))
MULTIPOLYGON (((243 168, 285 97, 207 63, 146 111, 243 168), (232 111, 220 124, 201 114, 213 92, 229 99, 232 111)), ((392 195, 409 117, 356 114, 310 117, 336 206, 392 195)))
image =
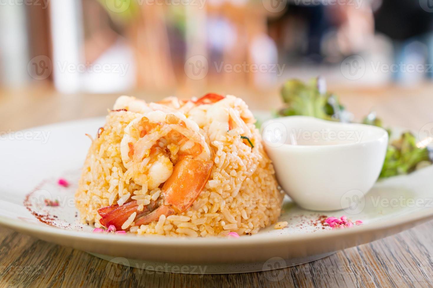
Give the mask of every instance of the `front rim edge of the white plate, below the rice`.
POLYGON ((156 246, 178 246, 185 247, 194 245, 198 246, 213 246, 218 247, 221 244, 233 244, 233 245, 246 245, 246 244, 284 244, 295 243, 299 241, 312 241, 317 239, 329 240, 333 237, 343 237, 354 234, 363 234, 373 231, 382 230, 384 228, 398 228, 404 225, 414 224, 416 222, 428 221, 433 218, 433 209, 423 209, 408 215, 401 215, 397 218, 390 218, 386 221, 370 223, 368 225, 360 225, 352 228, 338 229, 338 230, 327 230, 320 232, 307 232, 299 234, 283 234, 278 237, 261 237, 257 238, 254 235, 242 236, 239 238, 225 238, 225 237, 166 237, 159 235, 115 235, 115 234, 99 234, 87 231, 71 231, 65 230, 50 225, 37 224, 32 225, 22 220, 8 218, 0 215, 0 225, 3 227, 11 228, 16 230, 19 228, 22 231, 29 231, 32 234, 45 234, 45 235, 56 235, 62 237, 72 237, 75 240, 92 240, 102 242, 118 242, 120 244, 145 244, 145 245, 156 245, 156 246), (227 242, 230 241, 230 242, 227 242))

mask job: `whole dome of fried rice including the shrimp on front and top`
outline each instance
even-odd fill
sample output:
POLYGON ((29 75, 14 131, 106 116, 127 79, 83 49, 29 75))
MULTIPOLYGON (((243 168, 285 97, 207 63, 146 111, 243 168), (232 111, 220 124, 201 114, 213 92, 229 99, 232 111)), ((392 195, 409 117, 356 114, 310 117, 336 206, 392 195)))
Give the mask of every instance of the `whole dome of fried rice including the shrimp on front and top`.
POLYGON ((167 236, 255 234, 283 194, 246 103, 121 96, 92 141, 76 206, 97 228, 167 236))

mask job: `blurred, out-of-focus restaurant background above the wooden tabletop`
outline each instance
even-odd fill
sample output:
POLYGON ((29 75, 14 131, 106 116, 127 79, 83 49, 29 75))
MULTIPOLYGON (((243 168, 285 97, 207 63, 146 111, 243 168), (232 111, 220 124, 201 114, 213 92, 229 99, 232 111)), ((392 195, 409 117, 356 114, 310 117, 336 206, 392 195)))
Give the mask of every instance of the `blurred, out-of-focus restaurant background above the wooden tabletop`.
POLYGON ((433 75, 433 0, 0 0, 0 19, 2 89, 191 97, 433 75))

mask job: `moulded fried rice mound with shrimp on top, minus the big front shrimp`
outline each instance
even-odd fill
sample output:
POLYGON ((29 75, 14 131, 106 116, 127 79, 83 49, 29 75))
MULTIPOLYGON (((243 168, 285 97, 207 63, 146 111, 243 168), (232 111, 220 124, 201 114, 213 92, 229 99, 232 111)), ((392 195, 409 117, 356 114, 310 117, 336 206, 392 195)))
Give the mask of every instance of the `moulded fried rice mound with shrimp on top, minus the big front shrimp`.
POLYGON ((134 180, 132 169, 126 167, 122 157, 121 142, 127 126, 152 111, 184 115, 184 121, 196 123, 210 147, 213 165, 203 190, 185 211, 161 215, 145 225, 136 225, 129 217, 123 230, 139 235, 208 237, 230 232, 255 234, 277 222, 283 193, 248 106, 232 95, 218 101, 213 97, 203 99, 170 97, 146 103, 121 96, 116 101, 104 127, 92 140, 75 194, 82 223, 103 228, 98 213, 103 207, 136 200, 143 209, 164 198, 162 184, 151 187, 136 183, 139 181, 134 180))

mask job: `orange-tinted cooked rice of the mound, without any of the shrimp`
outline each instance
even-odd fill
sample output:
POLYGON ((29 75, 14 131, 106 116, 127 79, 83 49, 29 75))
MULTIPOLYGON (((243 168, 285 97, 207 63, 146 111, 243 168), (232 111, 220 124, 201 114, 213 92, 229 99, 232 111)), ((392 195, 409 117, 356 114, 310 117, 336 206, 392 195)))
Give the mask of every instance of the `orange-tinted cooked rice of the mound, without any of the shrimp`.
MULTIPOLYGON (((231 109, 231 108, 230 108, 231 109)), ((247 109, 247 108, 244 108, 247 109)), ((239 113, 231 111, 239 121, 239 113)), ((249 112, 249 111, 247 111, 249 112)), ((123 130, 141 114, 129 111, 110 112, 103 132, 92 142, 76 193, 77 208, 83 223, 101 227, 97 210, 112 204, 137 199, 142 210, 161 191, 148 191, 131 180, 120 155, 123 130)), ((194 204, 179 215, 161 216, 148 225, 134 226, 136 234, 167 236, 223 236, 228 232, 255 234, 275 223, 280 215, 283 195, 278 190, 274 168, 266 155, 262 139, 253 123, 242 121, 240 130, 249 135, 252 149, 239 133, 213 135, 210 123, 200 126, 210 137, 215 153, 210 178, 194 204)), ((128 219, 123 227, 133 224, 128 219)))

